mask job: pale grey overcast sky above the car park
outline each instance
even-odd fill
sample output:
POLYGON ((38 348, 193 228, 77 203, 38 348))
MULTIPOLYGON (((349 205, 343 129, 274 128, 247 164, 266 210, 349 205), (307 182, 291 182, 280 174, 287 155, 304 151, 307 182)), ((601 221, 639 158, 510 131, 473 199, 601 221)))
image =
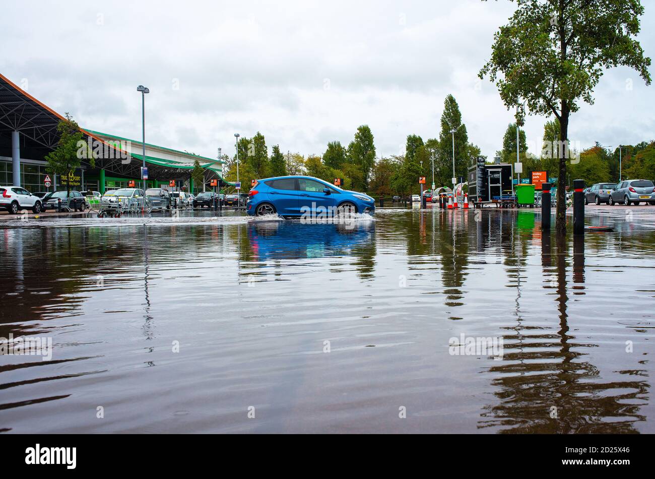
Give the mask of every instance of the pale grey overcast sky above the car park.
MULTIPOLYGON (((655 2, 645 1, 655 57, 655 2)), ((25 1, 3 5, 0 72, 81 126, 215 157, 234 133, 265 135, 269 151, 322 154, 371 126, 377 154, 403 153, 408 134, 438 136, 452 93, 471 142, 493 157, 514 121, 477 72, 515 4, 457 1, 25 1), (147 6, 148 5, 148 6, 147 6)), ((651 70, 651 74, 653 74, 651 70)), ((595 105, 572 115, 582 147, 654 140, 655 86, 635 71, 605 73, 595 105), (631 85, 631 88, 630 88, 631 85)), ((528 117, 540 142, 544 117, 528 117)))

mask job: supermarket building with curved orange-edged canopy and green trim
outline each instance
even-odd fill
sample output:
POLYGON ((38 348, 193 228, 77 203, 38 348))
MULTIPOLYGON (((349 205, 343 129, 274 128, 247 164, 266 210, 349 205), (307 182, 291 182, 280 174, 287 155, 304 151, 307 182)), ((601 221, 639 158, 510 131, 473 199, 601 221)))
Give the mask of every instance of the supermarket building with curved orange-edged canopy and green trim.
MULTIPOLYGON (((0 185, 22 186, 32 193, 65 189, 67 185, 78 191, 91 189, 100 193, 128 187, 130 182, 141 187, 141 142, 85 128, 81 128, 83 139, 101 152, 94 159, 95 164, 83 159, 79 168, 63 178, 50 175, 52 185, 45 187, 45 157, 57 145, 57 125, 63 119, 0 75, 0 185)), ((234 186, 223 179, 223 161, 186 151, 146 143, 145 164, 149 188, 172 189, 171 180, 176 182, 174 189, 192 192, 204 191, 210 180, 217 180, 223 189, 234 186), (204 170, 202 184, 194 184, 191 178, 196 160, 204 170)))

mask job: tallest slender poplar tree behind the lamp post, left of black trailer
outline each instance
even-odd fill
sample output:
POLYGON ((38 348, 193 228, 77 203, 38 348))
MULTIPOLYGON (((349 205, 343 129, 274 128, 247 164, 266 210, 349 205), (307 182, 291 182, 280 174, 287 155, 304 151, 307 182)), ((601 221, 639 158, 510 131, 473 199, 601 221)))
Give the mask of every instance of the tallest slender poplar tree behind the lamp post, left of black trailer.
POLYGON ((455 130, 455 177, 466 178, 468 167, 468 133, 466 125, 462 123, 462 113, 453 95, 448 95, 443 101, 443 113, 441 114, 441 132, 439 134, 439 147, 441 155, 450 160, 450 173, 447 184, 452 185, 453 178, 453 134, 455 130))

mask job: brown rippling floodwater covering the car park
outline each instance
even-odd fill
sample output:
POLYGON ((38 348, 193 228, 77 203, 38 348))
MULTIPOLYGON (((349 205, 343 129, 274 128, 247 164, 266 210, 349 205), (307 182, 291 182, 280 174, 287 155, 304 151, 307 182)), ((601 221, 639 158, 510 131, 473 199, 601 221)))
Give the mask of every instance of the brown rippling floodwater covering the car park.
POLYGON ((3 221, 0 431, 655 432, 655 212, 599 211, 3 221))

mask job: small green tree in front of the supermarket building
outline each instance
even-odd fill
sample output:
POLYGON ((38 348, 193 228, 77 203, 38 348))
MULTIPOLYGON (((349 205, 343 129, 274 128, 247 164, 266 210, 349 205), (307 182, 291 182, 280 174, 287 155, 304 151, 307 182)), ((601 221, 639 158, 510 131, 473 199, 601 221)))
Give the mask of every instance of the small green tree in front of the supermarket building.
MULTIPOLYGON (((83 133, 69 113, 65 113, 65 119, 58 123, 57 134, 59 136, 57 146, 45 157, 48 162, 46 169, 48 173, 68 178, 71 171, 79 168, 82 158, 86 158, 89 146, 82 139, 83 133)), ((93 164, 92 155, 90 161, 93 164)), ((71 182, 67 181, 66 193, 68 194, 70 191, 71 182)))

